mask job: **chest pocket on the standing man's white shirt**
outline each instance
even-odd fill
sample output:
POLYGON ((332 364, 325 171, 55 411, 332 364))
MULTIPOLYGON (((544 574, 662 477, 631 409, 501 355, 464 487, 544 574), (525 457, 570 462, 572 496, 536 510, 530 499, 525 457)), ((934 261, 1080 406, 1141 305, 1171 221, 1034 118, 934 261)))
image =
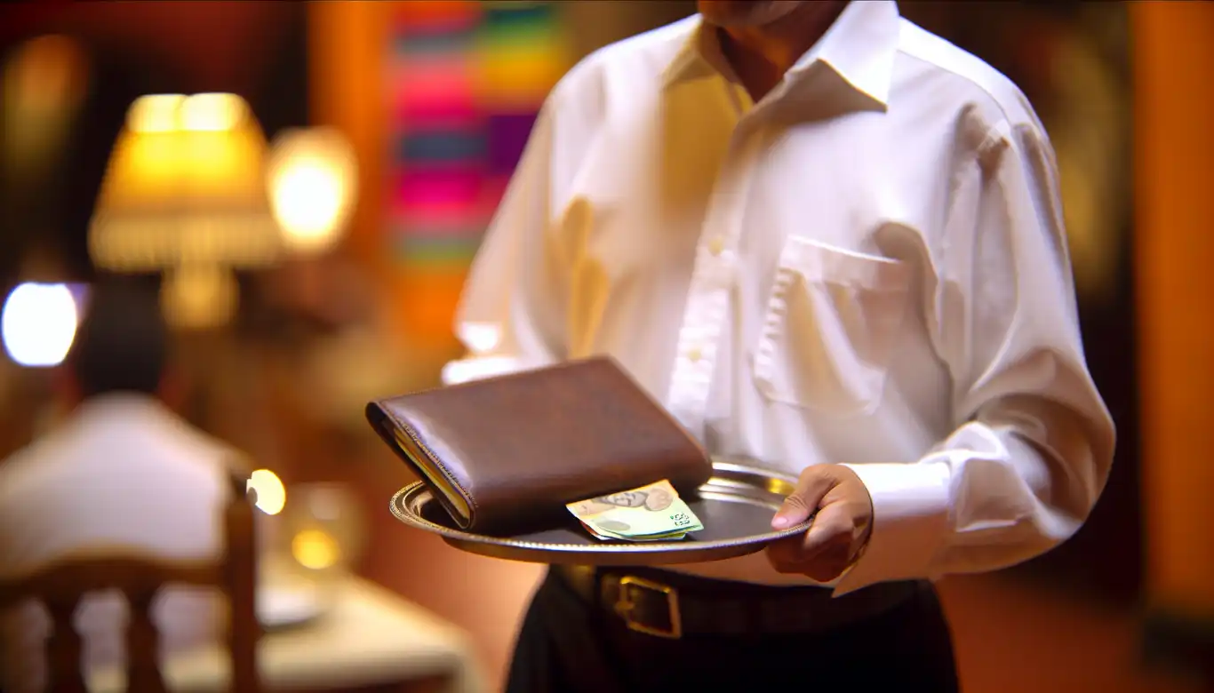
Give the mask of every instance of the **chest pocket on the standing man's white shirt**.
POLYGON ((886 257, 789 238, 754 354, 770 401, 833 415, 880 404, 910 273, 886 257))

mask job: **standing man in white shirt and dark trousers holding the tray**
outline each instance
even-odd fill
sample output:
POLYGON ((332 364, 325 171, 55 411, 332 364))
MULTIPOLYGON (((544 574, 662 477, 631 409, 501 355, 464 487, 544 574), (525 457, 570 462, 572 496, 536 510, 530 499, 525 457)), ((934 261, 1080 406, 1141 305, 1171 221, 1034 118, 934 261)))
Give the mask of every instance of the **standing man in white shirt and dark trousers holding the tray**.
POLYGON ((1113 454, 1046 134, 895 2, 699 10, 549 96, 444 377, 611 353, 714 454, 800 475, 775 527, 817 517, 747 558, 551 569, 510 689, 954 691, 930 580, 1066 540, 1113 454))

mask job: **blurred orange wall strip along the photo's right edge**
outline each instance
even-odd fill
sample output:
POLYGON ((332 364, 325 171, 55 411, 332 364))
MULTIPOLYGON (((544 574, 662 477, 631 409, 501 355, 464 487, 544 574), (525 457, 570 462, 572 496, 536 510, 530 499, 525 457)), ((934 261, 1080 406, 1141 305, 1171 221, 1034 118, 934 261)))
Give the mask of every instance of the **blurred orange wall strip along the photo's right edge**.
POLYGON ((1147 584, 1214 615, 1214 2, 1130 18, 1147 584))

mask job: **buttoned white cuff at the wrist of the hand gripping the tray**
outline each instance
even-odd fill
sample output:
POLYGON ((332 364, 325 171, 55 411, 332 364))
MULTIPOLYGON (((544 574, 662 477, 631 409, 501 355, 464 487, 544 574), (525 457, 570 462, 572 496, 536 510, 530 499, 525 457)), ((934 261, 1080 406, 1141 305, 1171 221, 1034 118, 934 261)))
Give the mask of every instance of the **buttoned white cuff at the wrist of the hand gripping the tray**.
POLYGON ((943 464, 844 465, 873 499, 868 545, 834 589, 839 597, 861 587, 930 576, 949 515, 949 467, 943 464))

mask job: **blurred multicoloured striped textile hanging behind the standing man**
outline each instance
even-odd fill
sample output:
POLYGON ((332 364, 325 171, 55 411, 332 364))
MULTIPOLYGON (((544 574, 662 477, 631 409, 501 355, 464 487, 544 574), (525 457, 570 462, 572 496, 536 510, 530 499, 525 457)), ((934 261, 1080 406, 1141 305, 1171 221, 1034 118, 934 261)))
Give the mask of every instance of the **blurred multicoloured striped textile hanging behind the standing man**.
POLYGON ((402 309, 432 333, 416 336, 450 339, 459 280, 567 67, 556 5, 393 4, 386 240, 402 309))

